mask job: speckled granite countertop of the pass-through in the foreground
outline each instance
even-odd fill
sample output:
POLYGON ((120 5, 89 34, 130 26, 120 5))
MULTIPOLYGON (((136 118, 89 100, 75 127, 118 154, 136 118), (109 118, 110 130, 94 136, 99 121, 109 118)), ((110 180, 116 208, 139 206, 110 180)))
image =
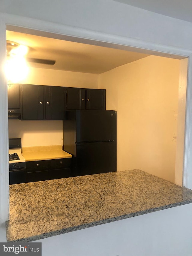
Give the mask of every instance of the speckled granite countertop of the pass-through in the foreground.
POLYGON ((14 184, 7 242, 35 241, 187 203, 192 190, 141 170, 14 184))

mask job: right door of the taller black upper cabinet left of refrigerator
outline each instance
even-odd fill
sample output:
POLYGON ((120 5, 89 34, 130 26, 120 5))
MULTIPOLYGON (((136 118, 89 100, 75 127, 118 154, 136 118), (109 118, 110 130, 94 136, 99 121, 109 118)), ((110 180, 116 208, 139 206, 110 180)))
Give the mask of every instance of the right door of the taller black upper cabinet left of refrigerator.
POLYGON ((64 119, 64 91, 64 87, 44 86, 46 120, 64 119))

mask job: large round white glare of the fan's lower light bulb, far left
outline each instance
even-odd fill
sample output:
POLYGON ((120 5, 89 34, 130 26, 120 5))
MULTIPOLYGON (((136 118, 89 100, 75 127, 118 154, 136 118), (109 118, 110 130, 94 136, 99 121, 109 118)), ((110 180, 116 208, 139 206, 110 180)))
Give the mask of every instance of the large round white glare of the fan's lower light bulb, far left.
POLYGON ((18 83, 25 79, 29 73, 29 67, 22 56, 11 56, 5 64, 5 74, 7 80, 12 83, 18 83))

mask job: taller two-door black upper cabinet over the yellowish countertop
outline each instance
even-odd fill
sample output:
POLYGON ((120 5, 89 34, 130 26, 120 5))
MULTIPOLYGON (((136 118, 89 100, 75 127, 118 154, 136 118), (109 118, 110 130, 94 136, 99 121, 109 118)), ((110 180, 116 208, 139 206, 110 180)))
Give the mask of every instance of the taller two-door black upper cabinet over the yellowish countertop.
POLYGON ((63 120, 64 87, 22 85, 22 120, 63 120))

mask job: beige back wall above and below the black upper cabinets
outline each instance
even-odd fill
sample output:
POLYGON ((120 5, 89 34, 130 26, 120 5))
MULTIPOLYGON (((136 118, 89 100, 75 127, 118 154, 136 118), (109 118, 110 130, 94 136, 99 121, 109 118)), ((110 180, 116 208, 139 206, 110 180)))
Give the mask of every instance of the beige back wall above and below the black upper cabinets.
MULTIPOLYGON (((98 75, 31 68, 20 83, 98 89, 98 75)), ((22 146, 63 145, 62 121, 9 120, 9 138, 21 138, 22 146)))

